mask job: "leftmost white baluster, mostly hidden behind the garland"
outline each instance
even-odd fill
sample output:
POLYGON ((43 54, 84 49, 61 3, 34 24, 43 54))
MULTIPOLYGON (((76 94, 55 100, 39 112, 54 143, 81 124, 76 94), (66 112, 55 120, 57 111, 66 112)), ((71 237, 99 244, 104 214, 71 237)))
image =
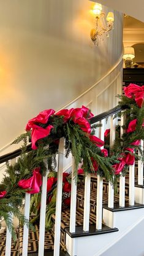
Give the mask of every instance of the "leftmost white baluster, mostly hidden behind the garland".
MULTIPOLYGON (((10 160, 10 165, 15 164, 15 158, 10 160)), ((13 214, 10 213, 10 219, 13 220, 13 214)), ((11 244, 12 244, 12 234, 10 233, 9 229, 7 228, 7 235, 6 235, 6 256, 10 256, 11 254, 11 244)))

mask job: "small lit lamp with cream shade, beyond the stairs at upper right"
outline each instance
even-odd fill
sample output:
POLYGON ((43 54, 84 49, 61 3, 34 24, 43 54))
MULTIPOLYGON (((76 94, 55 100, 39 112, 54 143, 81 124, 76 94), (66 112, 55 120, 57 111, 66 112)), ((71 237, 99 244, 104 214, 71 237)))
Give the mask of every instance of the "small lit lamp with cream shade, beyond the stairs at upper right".
POLYGON ((125 68, 132 68, 132 59, 135 57, 135 52, 133 47, 124 47, 124 64, 125 68))

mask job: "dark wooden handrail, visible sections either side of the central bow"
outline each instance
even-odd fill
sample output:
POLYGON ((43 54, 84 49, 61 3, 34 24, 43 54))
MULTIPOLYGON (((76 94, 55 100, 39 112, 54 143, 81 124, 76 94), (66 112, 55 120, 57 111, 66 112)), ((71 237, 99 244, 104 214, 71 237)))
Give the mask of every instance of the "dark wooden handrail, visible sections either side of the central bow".
MULTIPOLYGON (((90 119, 90 123, 91 125, 93 125, 96 122, 99 122, 100 120, 110 117, 110 115, 115 115, 118 112, 121 112, 123 109, 121 109, 121 107, 113 107, 113 109, 110 109, 109 111, 105 111, 102 114, 96 115, 95 117, 92 117, 90 119)), ((28 145, 27 147, 27 152, 31 151, 31 144, 28 145)), ((9 161, 15 157, 18 157, 21 154, 21 149, 17 149, 13 152, 7 153, 6 155, 2 155, 0 157, 0 164, 4 163, 6 161, 9 161)))

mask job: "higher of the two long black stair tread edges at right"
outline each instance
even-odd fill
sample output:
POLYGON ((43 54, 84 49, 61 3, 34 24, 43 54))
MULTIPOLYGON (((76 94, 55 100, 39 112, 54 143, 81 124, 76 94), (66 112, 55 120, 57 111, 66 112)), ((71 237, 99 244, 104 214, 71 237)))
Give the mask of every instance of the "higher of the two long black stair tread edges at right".
POLYGON ((119 206, 119 203, 115 203, 114 208, 108 208, 107 204, 103 204, 102 207, 111 212, 119 212, 119 211, 128 211, 128 210, 144 208, 144 205, 135 203, 134 206, 130 206, 129 203, 126 203, 125 207, 121 207, 119 206))

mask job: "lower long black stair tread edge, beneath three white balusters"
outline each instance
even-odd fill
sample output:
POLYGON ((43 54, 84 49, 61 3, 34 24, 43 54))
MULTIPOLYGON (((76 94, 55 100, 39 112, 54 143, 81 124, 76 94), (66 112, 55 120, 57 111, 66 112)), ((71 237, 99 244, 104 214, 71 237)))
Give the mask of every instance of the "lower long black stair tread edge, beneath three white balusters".
POLYGON ((97 230, 96 225, 89 225, 89 231, 83 231, 83 226, 75 227, 75 233, 70 233, 69 228, 66 228, 65 231, 70 236, 70 238, 80 238, 83 236, 94 236, 112 233, 119 230, 118 228, 110 228, 105 225, 102 225, 101 230, 97 230))

